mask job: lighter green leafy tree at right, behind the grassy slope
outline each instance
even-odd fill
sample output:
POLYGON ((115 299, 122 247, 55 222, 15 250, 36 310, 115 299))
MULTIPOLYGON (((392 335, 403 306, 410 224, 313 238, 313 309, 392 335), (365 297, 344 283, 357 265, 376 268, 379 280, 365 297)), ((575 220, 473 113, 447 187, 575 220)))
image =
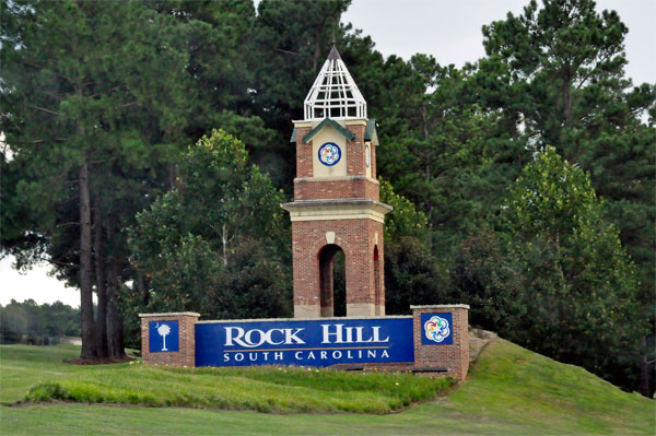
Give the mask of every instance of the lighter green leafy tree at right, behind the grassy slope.
POLYGON ((504 219, 524 306, 505 334, 606 378, 625 378, 618 362, 637 349, 645 320, 633 316, 635 268, 604 220, 589 176, 547 148, 517 179, 504 219))

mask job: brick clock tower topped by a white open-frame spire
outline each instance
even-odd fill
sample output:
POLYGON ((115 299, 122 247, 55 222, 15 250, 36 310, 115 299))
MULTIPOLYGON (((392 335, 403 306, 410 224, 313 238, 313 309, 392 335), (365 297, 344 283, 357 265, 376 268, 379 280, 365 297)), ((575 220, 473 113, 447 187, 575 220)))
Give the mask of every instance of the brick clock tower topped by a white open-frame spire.
POLYGON ((333 316, 332 261, 345 259, 347 316, 385 315, 375 120, 333 46, 294 121, 294 317, 333 316))

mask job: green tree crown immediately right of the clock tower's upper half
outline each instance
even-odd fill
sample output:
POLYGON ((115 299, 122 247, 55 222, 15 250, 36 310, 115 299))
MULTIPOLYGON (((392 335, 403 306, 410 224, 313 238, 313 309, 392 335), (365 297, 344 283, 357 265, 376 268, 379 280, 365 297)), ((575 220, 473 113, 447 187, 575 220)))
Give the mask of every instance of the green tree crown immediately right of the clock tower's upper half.
POLYGON ((389 58, 380 96, 380 174, 425 213, 432 248, 444 263, 455 249, 499 211, 505 189, 528 151, 504 131, 503 113, 477 95, 472 67, 443 67, 415 55, 389 58))

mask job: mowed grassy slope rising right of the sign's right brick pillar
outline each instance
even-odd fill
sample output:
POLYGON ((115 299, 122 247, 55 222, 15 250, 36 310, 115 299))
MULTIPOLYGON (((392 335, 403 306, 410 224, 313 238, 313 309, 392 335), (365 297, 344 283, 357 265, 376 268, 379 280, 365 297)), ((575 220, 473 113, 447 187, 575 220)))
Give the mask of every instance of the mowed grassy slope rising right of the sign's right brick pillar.
POLYGON ((654 435, 656 429, 653 400, 501 339, 483 350, 446 409, 483 422, 530 424, 539 435, 654 435))

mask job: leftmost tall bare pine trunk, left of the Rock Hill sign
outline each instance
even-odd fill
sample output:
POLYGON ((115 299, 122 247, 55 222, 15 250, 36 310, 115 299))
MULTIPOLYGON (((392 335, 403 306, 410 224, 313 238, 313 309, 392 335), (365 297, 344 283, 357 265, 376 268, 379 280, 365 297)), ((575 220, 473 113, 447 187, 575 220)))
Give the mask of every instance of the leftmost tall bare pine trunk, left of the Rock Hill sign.
POLYGON ((80 189, 80 311, 82 313, 81 360, 97 358, 94 343, 93 295, 91 284, 91 211, 89 196, 89 166, 86 155, 78 170, 80 189))

